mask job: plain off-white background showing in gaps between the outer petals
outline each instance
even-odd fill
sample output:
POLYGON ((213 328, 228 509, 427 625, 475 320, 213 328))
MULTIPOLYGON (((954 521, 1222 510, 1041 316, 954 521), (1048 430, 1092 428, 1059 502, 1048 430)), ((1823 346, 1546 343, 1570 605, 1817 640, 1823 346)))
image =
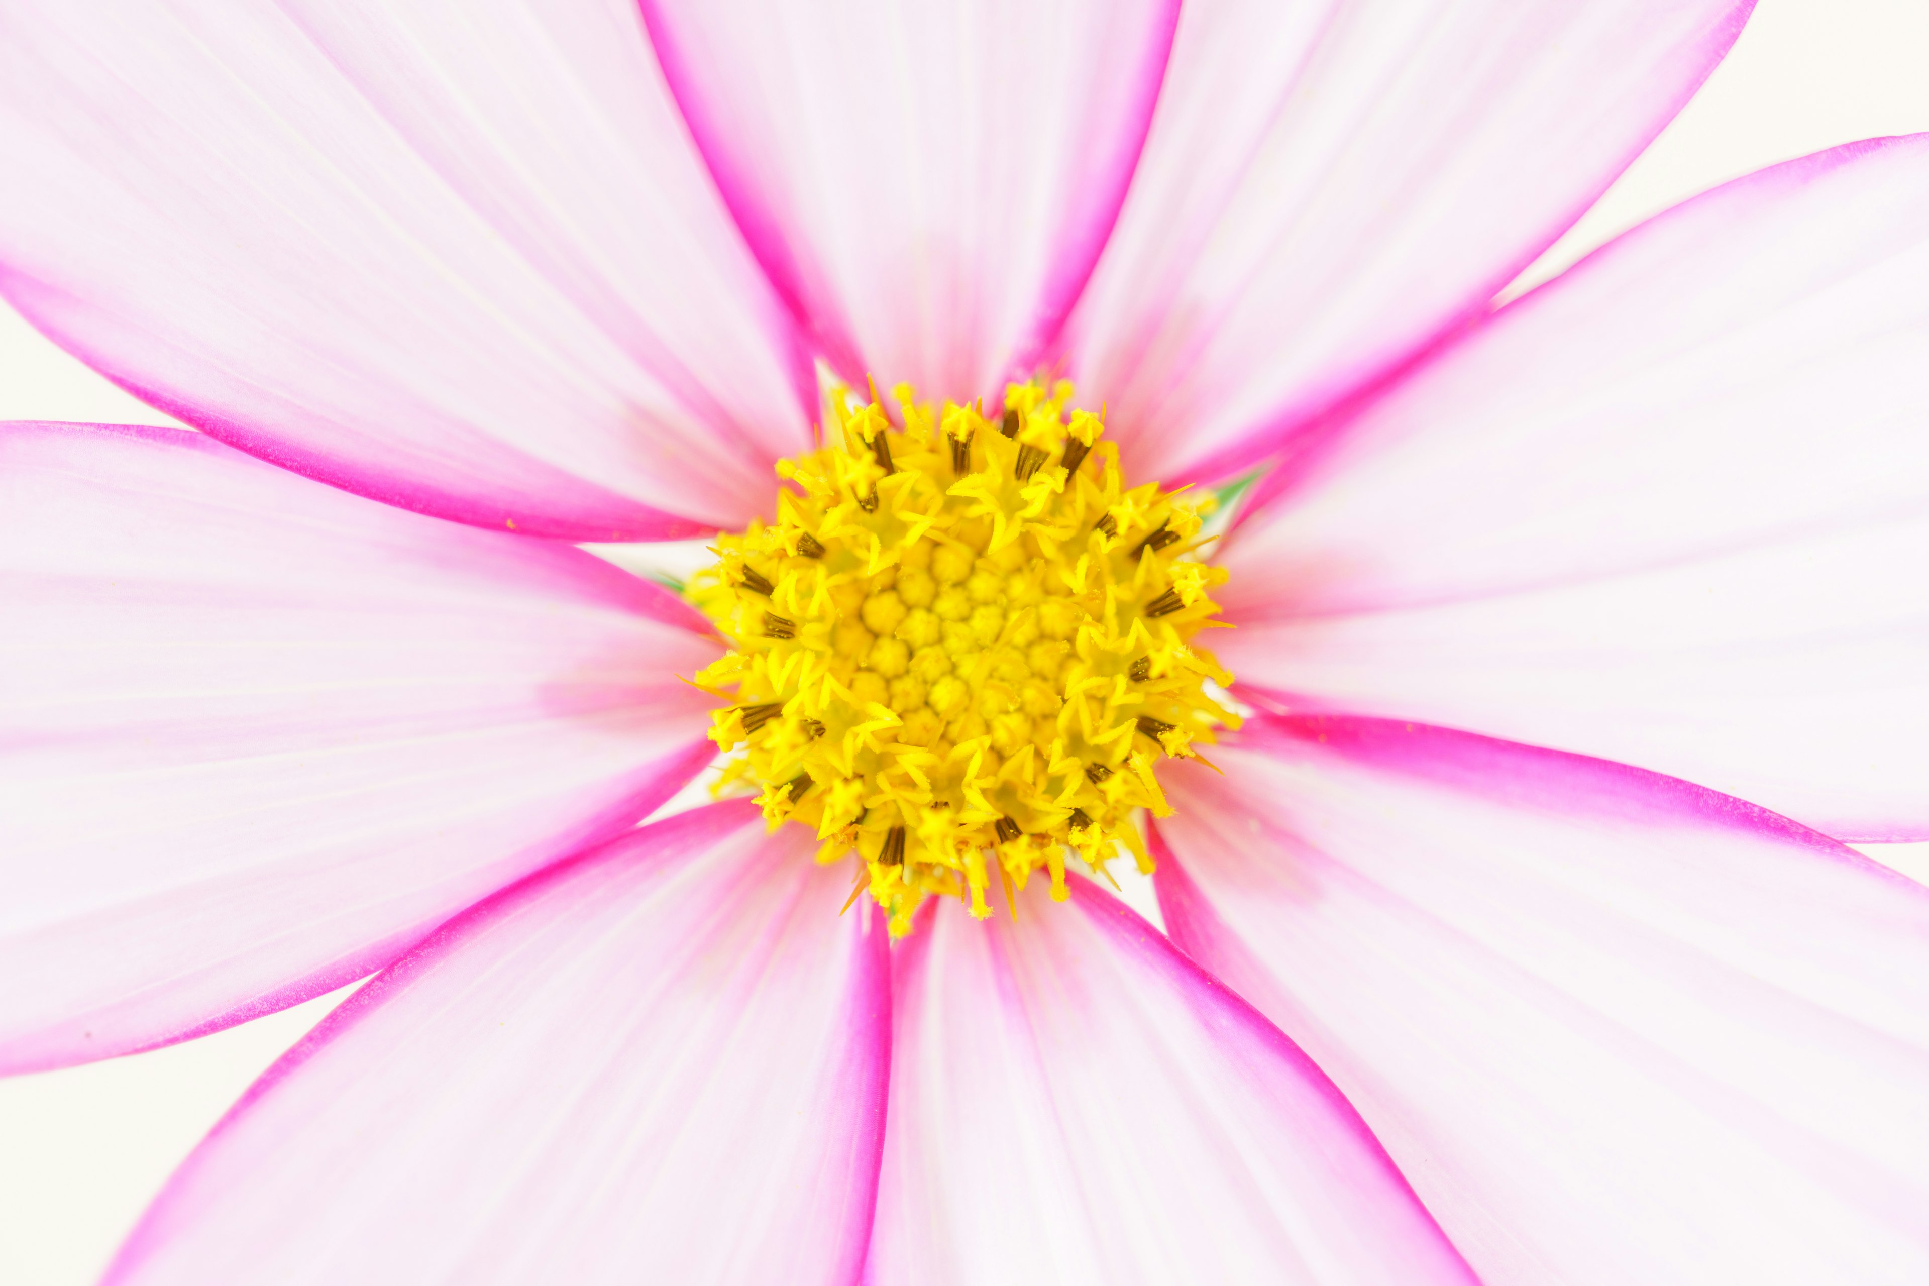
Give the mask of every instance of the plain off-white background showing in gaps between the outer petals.
MULTIPOLYGON (((1723 179, 1914 131, 1929 131, 1929 0, 1761 0, 1701 94, 1528 276, 1723 179)), ((4 308, 0 418, 170 422, 4 308)), ((1871 848, 1929 881, 1925 850, 1871 848)), ((174 1049, 0 1080, 0 1284, 95 1280, 168 1172, 340 995, 174 1049)))

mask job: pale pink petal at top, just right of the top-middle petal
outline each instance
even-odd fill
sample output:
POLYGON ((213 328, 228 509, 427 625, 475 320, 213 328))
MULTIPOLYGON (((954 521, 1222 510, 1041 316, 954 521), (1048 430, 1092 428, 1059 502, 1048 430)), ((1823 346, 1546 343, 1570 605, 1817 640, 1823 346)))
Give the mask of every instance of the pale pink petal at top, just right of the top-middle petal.
POLYGON ((1134 476, 1279 447, 1485 307, 1680 110, 1753 0, 1188 4, 1073 314, 1134 476))

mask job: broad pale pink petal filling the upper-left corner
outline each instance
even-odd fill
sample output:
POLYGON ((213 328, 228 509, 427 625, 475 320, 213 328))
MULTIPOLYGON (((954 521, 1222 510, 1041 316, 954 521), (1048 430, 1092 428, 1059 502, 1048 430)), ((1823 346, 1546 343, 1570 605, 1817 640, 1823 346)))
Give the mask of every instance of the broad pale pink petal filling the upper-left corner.
POLYGON ((19 0, 0 166, 0 293, 336 486, 648 540, 766 511, 808 442, 814 376, 625 0, 19 0))

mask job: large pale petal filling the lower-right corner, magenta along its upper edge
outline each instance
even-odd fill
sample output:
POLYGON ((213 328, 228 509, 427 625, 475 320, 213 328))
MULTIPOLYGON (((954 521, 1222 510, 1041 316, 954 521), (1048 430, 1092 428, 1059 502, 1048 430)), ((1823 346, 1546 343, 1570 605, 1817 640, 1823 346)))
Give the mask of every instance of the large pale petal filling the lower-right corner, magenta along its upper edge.
POLYGON ((1929 1280, 1929 889, 1426 725, 1263 717, 1213 760, 1159 823, 1175 941, 1333 1076, 1487 1286, 1929 1280))

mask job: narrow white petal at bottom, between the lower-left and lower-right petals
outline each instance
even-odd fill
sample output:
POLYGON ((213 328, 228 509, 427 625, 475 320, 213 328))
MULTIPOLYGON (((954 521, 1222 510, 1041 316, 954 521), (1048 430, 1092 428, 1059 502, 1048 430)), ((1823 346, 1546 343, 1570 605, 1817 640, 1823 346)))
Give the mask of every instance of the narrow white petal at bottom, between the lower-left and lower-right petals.
POLYGON ((870 1278, 1472 1282, 1352 1107, 1092 885, 947 902, 893 962, 870 1278))

